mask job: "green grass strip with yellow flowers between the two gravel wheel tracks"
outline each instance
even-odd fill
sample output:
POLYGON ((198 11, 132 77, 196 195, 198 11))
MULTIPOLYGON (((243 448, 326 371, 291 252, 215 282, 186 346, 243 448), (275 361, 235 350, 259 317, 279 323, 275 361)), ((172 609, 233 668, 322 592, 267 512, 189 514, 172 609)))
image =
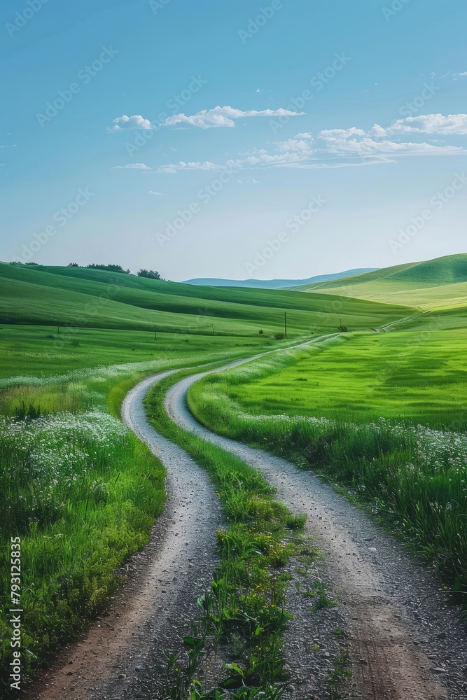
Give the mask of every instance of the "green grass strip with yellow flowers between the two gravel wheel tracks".
POLYGON ((293 516, 274 498, 274 491, 260 473, 239 458, 176 426, 165 412, 165 394, 190 372, 180 372, 155 384, 146 398, 148 419, 158 431, 176 442, 209 472, 229 526, 218 531, 221 563, 211 590, 200 605, 204 610, 205 636, 218 643, 232 637, 243 640, 244 654, 239 664, 228 664, 219 686, 230 690, 202 690, 193 658, 205 639, 186 639, 190 657, 188 678, 181 671, 172 684, 169 697, 193 699, 227 697, 274 699, 281 696, 284 673, 282 634, 290 615, 284 610, 288 576, 284 566, 298 553, 305 516, 293 516))

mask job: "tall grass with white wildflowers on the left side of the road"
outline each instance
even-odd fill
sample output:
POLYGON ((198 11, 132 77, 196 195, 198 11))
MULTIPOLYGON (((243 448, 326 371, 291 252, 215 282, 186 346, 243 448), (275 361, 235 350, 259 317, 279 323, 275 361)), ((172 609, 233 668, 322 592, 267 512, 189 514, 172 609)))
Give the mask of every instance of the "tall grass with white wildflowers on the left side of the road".
MULTIPOLYGON (((148 542, 165 502, 165 470, 116 417, 151 366, 5 381, 0 391, 0 600, 10 598, 9 542, 22 540, 26 680, 81 629, 148 542), (68 379, 68 381, 67 381, 68 379)), ((11 629, 0 613, 0 694, 11 629)))

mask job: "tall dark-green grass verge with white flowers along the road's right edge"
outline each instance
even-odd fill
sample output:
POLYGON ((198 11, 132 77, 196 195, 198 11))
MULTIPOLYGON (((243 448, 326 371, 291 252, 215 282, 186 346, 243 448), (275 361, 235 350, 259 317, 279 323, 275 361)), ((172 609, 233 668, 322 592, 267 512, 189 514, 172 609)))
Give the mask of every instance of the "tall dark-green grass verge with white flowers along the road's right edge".
MULTIPOLYGON (((258 374, 265 372, 262 360, 256 365, 258 374)), ((221 435, 319 470, 391 524, 447 582, 467 584, 466 433, 389 419, 355 424, 350 415, 347 420, 251 415, 232 395, 237 396, 239 378, 251 379, 255 369, 237 372, 193 385, 188 405, 198 420, 221 435)))

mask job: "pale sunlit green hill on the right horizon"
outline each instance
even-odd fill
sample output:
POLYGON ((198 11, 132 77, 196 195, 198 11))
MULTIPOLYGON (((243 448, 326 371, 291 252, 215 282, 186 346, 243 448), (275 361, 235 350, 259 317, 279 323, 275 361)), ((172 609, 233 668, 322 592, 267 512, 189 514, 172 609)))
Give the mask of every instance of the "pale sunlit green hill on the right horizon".
POLYGON ((345 279, 295 286, 293 290, 426 308, 459 306, 467 302, 467 254, 410 262, 345 279))

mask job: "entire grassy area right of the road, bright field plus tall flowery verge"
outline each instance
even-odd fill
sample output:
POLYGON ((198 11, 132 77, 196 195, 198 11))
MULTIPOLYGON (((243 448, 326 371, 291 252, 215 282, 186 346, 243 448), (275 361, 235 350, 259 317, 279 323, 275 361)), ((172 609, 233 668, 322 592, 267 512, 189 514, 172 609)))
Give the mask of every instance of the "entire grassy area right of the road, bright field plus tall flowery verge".
POLYGON ((188 402, 212 430, 320 469, 467 584, 466 339, 340 337, 211 375, 188 402))

